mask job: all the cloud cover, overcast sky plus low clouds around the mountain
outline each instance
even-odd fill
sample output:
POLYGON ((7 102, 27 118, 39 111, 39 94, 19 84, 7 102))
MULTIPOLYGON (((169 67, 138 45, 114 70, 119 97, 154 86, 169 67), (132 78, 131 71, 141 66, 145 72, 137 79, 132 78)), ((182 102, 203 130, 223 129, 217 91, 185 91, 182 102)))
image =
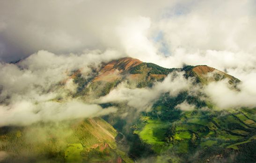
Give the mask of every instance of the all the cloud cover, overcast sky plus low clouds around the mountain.
MULTIPOLYGON (((124 56, 166 68, 208 65, 225 71, 241 80, 239 92, 226 81, 202 91, 221 109, 256 107, 255 7, 254 0, 1 1, 0 125, 22 124, 26 117, 32 123, 105 114, 97 104, 53 99, 76 89, 68 78, 73 70, 81 68, 88 76, 91 67, 124 56), (71 104, 84 109, 70 114, 71 104), (63 113, 55 111, 59 108, 63 113)), ((96 103, 126 101, 148 109, 161 93, 176 95, 184 89, 190 89, 190 81, 168 75, 153 88, 130 89, 121 83, 96 103)), ((177 108, 193 106, 184 102, 177 108)))

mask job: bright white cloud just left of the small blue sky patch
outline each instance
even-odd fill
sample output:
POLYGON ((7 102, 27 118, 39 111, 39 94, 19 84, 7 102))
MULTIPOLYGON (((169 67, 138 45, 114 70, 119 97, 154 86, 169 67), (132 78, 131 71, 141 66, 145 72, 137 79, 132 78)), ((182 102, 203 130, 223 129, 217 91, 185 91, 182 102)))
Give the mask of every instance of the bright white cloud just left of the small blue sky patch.
POLYGON ((148 39, 150 25, 149 17, 140 16, 136 19, 125 19, 117 27, 121 46, 129 56, 149 62, 155 59, 157 48, 148 39))

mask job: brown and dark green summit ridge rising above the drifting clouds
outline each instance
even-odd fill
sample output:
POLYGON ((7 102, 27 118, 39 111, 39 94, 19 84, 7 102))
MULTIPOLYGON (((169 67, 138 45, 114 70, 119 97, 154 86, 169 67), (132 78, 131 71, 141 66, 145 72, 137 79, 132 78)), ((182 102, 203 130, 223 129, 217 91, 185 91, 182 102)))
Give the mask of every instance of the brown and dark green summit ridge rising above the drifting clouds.
POLYGON ((138 76, 140 76, 139 74, 143 74, 143 70, 141 70, 141 67, 143 66, 149 69, 147 72, 148 76, 157 80, 165 78, 172 71, 185 71, 187 77, 197 77, 197 80, 204 84, 212 81, 219 81, 224 78, 228 78, 230 83, 240 82, 240 80, 234 76, 228 75, 225 72, 207 65, 185 66, 183 68, 163 68, 154 63, 142 62, 132 57, 110 61, 99 71, 99 74, 93 79, 93 82, 113 82, 122 78, 120 75, 125 73, 129 73, 132 79, 138 78, 138 76), (215 76, 207 76, 210 73, 214 73, 215 76))

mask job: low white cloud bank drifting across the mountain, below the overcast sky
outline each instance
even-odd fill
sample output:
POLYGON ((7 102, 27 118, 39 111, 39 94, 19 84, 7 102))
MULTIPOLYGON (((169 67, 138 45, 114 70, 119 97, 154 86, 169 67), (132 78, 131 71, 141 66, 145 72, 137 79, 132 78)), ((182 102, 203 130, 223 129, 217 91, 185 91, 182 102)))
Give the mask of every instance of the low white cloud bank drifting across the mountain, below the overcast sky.
MULTIPOLYGON (((124 80, 100 98, 73 98, 77 90, 77 84, 70 77, 73 71, 80 69, 82 76, 89 78, 92 68, 99 70, 102 62, 117 58, 120 53, 113 50, 66 55, 39 51, 15 64, 0 63, 0 126, 59 122, 117 111, 114 107, 102 109, 99 104, 106 102, 126 103, 137 111, 150 111, 161 95, 168 93, 175 97, 184 91, 195 96, 206 95, 219 109, 256 107, 256 92, 250 88, 254 82, 241 82, 237 89, 227 80, 194 85, 195 79, 185 78, 183 71, 170 73, 150 88, 133 88, 124 80)), ((184 101, 176 108, 186 111, 195 106, 184 101)))

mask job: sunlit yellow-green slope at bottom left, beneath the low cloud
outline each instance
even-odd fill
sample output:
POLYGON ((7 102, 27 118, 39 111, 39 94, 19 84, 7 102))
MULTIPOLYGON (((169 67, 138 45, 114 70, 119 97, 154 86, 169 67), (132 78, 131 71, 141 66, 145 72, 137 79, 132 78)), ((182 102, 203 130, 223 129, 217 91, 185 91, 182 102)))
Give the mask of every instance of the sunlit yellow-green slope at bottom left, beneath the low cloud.
POLYGON ((117 149, 117 131, 101 118, 82 122, 39 123, 0 129, 6 162, 132 163, 117 149))

